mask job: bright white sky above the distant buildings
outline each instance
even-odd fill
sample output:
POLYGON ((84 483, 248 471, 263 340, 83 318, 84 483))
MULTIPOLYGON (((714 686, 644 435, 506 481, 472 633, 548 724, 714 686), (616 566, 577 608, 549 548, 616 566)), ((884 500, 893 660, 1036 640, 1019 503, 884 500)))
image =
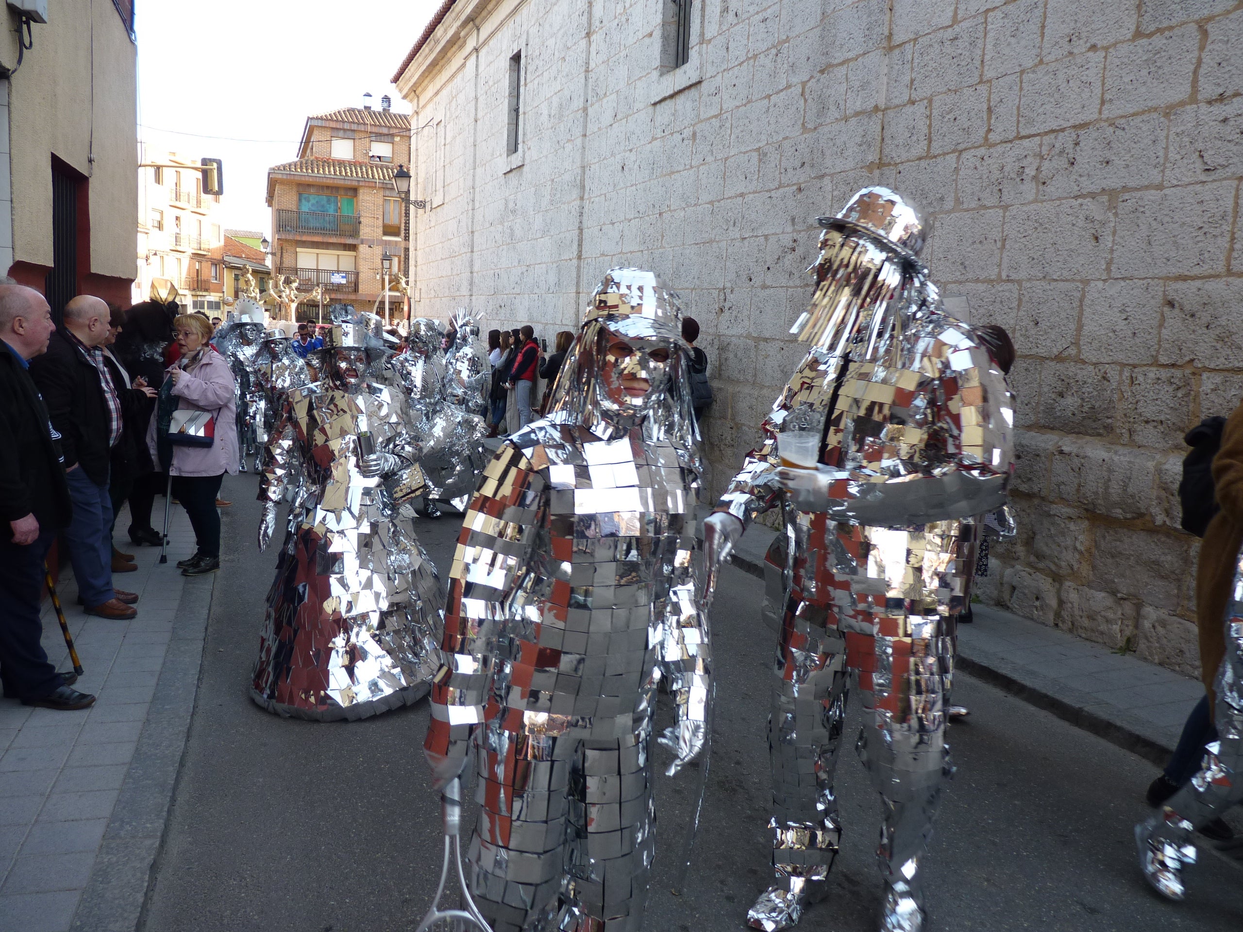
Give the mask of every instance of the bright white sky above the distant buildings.
POLYGON ((377 108, 389 94, 409 113, 389 78, 440 2, 139 4, 138 138, 148 152, 224 159, 221 225, 270 234, 268 167, 297 158, 310 114, 360 107, 367 91, 377 108))

